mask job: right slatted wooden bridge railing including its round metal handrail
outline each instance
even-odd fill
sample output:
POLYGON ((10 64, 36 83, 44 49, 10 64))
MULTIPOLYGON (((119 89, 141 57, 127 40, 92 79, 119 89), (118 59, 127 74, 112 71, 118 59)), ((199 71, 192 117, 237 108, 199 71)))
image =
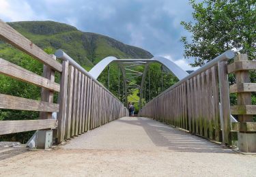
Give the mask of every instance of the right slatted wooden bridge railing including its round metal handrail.
POLYGON ((230 50, 216 57, 148 102, 139 116, 231 144, 227 60, 233 57, 230 50))

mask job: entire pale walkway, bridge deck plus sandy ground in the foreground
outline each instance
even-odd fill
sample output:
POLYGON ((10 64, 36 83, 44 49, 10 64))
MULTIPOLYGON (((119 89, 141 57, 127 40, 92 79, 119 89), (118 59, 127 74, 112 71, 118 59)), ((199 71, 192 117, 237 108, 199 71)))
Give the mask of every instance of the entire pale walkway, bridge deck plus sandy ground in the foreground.
POLYGON ((53 150, 0 160, 0 176, 255 175, 255 156, 141 117, 119 118, 53 150))

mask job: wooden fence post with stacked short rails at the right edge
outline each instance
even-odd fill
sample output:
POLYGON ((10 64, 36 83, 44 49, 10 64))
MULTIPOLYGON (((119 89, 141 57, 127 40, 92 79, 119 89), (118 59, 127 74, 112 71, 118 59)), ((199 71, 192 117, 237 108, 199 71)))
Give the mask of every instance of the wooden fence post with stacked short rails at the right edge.
MULTIPOLYGON (((251 93, 256 92, 256 83, 251 83, 249 70, 256 70, 256 61, 248 61, 247 54, 238 54, 227 67, 229 74, 235 74, 236 83, 229 87, 236 93, 238 103, 231 106, 231 114, 238 116, 233 130, 238 131, 238 147, 242 152, 256 152, 256 105, 252 105, 251 93)), ((254 78, 255 80, 256 78, 254 78)))

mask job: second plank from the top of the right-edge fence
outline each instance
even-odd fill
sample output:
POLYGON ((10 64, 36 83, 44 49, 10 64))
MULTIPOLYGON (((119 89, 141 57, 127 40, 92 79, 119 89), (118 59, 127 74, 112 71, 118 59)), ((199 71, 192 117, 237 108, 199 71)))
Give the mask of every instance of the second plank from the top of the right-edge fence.
POLYGON ((229 86, 229 93, 256 92, 256 83, 237 83, 229 86))

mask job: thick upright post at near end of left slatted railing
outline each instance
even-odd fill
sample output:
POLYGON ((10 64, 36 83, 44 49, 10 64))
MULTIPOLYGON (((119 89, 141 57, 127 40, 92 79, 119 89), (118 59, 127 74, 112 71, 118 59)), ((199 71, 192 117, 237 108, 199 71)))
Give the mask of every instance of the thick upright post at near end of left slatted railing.
POLYGON ((59 92, 59 112, 57 113, 58 120, 58 135, 57 141, 63 142, 65 137, 65 125, 66 125, 66 112, 67 112, 67 90, 68 90, 68 61, 62 61, 62 73, 61 73, 61 91, 59 92))

